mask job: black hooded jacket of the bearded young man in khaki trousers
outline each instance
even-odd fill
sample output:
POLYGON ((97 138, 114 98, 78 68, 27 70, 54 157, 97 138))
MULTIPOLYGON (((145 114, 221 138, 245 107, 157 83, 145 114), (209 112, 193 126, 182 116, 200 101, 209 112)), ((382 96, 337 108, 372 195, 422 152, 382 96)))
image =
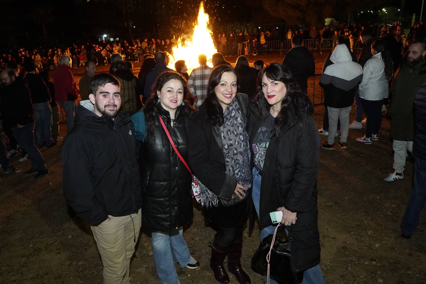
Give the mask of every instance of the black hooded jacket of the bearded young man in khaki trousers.
POLYGON ((62 148, 63 194, 84 221, 97 226, 107 215, 141 208, 137 141, 130 116, 99 117, 78 105, 74 127, 62 148))

